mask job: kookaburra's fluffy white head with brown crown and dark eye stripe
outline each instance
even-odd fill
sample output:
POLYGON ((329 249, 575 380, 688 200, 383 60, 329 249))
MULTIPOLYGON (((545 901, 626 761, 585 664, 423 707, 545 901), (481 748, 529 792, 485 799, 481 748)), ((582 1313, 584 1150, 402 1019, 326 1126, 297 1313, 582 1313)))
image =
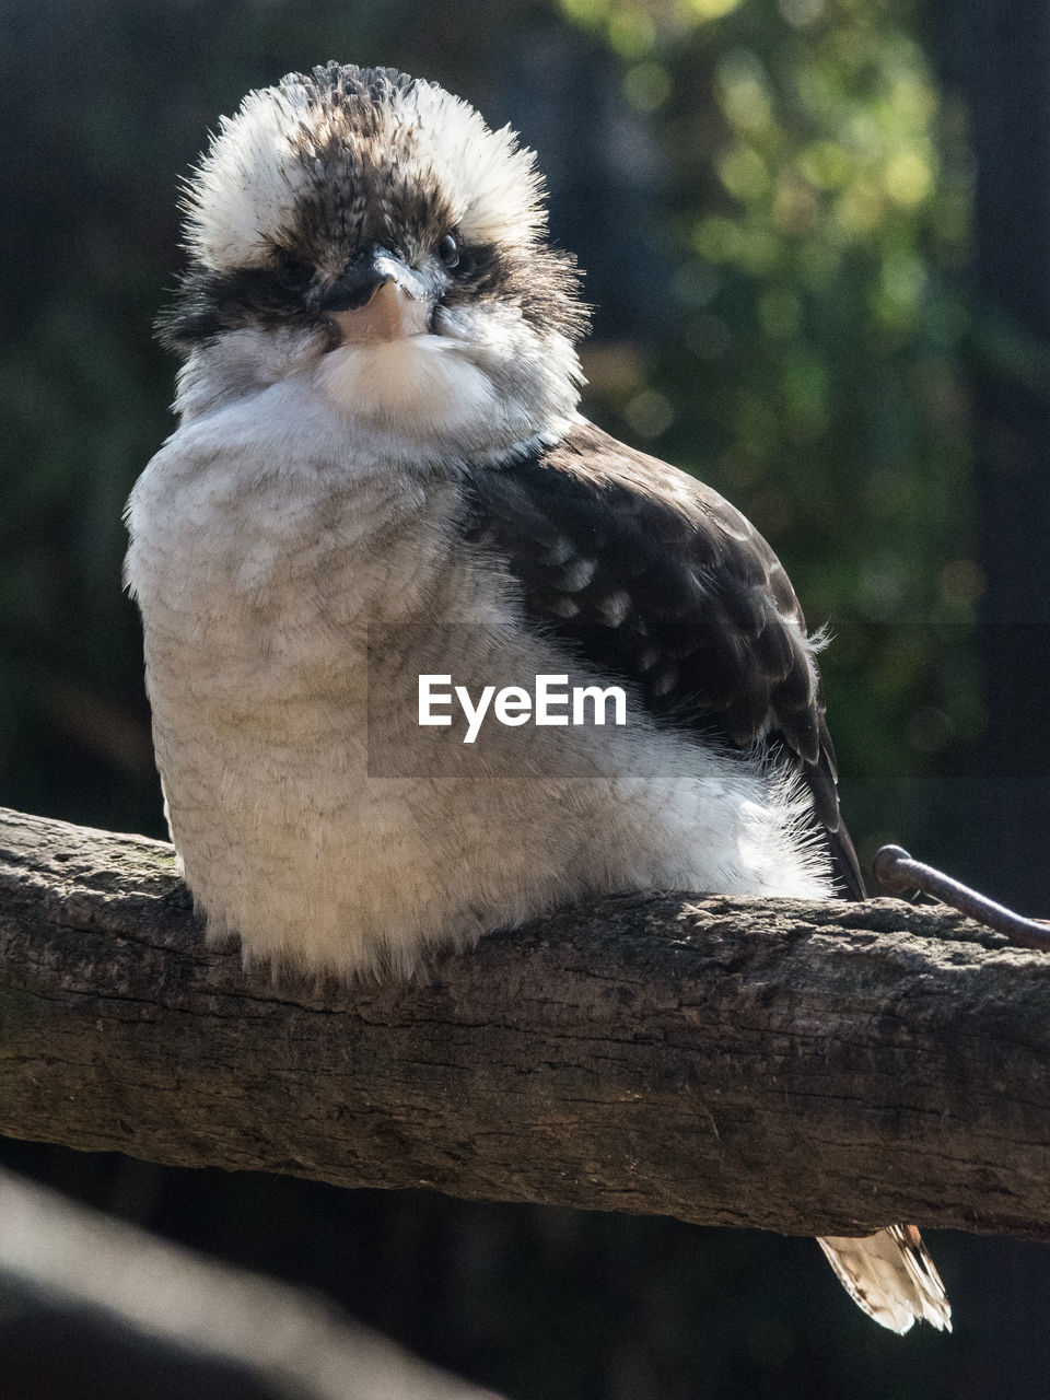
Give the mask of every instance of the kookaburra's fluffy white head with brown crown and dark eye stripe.
POLYGON ((585 311, 535 157, 437 84, 329 63, 251 92, 185 210, 190 263, 161 322, 183 412, 294 384, 447 455, 574 413, 585 311))

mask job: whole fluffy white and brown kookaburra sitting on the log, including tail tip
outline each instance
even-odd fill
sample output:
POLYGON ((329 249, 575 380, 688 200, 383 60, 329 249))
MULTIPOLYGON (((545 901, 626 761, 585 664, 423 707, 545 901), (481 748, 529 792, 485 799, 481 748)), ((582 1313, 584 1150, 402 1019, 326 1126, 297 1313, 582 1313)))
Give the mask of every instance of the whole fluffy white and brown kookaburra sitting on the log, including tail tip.
MULTIPOLYGON (((329 64, 223 120, 186 209, 179 427, 132 493, 127 581, 209 938, 407 976, 602 892, 861 896, 773 550, 578 413, 532 153, 433 83, 329 64), (420 735, 395 701, 497 672, 616 680, 633 722, 391 776, 420 735)), ((822 1243, 886 1327, 949 1326, 913 1226, 822 1243)))

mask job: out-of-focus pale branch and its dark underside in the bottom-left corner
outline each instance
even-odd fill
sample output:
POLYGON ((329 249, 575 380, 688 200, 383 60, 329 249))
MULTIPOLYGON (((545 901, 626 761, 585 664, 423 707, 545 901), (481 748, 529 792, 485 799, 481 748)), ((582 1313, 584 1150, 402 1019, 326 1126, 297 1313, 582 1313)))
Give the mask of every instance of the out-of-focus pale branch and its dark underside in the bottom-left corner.
POLYGON ((217 1264, 8 1172, 0 1172, 0 1301, 7 1396, 500 1400, 314 1294, 217 1264), (213 1371, 216 1362, 224 1369, 213 1371))

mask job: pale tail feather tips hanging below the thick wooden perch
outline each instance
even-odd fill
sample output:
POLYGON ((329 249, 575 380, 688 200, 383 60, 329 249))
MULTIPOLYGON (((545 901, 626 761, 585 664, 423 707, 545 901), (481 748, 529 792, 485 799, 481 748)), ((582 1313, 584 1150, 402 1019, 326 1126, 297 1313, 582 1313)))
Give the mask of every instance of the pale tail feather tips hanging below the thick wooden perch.
POLYGON ((952 1330, 952 1309, 941 1275, 914 1225, 890 1225, 860 1239, 818 1239, 839 1282, 869 1317, 906 1333, 916 1322, 952 1330))

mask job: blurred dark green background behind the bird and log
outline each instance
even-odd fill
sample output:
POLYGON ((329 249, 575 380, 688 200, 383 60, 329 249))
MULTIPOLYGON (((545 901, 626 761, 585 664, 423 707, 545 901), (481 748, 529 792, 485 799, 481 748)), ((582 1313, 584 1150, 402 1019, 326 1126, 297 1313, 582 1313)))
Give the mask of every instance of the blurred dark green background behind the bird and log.
MULTIPOLYGON (((151 321, 218 113, 329 57, 539 151, 595 307, 585 407, 735 501, 812 626, 843 805, 1050 911, 1050 15, 1036 0, 7 0, 0 801, 164 836, 120 511, 172 427, 151 321)), ((672 1221, 0 1159, 325 1288, 531 1397, 1036 1397, 1036 1246, 932 1240, 952 1338, 816 1246, 672 1221)))

